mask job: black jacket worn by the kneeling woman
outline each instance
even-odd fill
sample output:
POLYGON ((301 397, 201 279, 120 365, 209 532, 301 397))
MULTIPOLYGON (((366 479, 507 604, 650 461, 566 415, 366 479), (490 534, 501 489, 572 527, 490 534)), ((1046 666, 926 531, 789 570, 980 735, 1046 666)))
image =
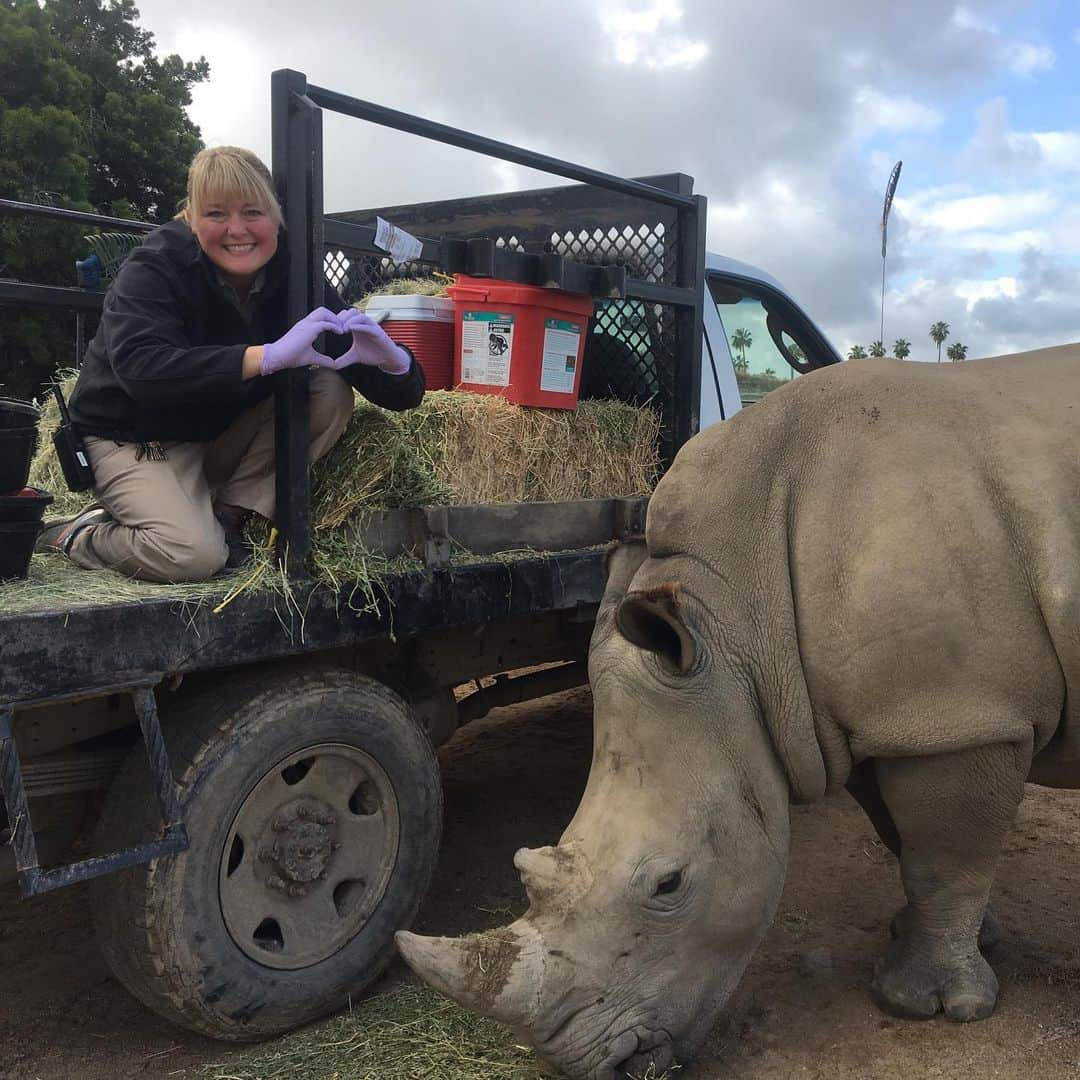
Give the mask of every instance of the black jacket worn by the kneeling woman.
MULTIPOLYGON (((121 443, 216 438, 273 392, 273 379, 244 381, 243 355, 248 346, 275 341, 288 329, 287 266, 281 233, 247 324, 187 222, 170 221, 149 233, 106 293, 71 394, 76 427, 121 443)), ((334 311, 345 307, 329 286, 324 303, 334 311)), ((326 335, 328 355, 340 356, 351 343, 351 337, 326 335)), ((339 374, 383 408, 413 408, 423 397, 416 360, 405 375, 363 364, 339 374)))

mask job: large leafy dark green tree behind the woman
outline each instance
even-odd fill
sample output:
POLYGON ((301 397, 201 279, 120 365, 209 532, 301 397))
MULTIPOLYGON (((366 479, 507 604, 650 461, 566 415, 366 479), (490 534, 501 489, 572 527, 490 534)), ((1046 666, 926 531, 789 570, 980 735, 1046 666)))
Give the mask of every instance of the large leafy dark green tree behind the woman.
MULTIPOLYGON (((202 147, 187 106, 205 59, 154 55, 133 0, 0 0, 0 197, 163 220, 202 147)), ((0 276, 75 284, 84 226, 0 218, 0 276)), ((0 308, 0 392, 70 364, 75 319, 0 308)))

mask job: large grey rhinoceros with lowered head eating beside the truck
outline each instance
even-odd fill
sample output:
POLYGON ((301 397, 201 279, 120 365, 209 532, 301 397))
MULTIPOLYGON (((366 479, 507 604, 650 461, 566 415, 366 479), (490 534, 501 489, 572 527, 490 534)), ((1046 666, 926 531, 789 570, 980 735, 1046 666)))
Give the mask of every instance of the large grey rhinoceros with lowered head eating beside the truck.
POLYGON ((1025 781, 1080 785, 1080 347, 837 365, 678 454, 590 648, 595 739, 529 908, 402 933, 436 988, 567 1076, 700 1047, 769 926, 788 807, 850 786, 907 904, 873 994, 974 1021, 1025 781))

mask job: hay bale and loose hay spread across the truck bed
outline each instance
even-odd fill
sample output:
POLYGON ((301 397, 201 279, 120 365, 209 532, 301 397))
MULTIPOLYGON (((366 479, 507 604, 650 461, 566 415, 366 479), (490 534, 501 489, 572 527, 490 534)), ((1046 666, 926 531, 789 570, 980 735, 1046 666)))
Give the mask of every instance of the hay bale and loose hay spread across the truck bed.
MULTIPOLYGON (((58 378, 65 393, 70 392, 75 374, 58 378)), ((30 483, 55 496, 50 517, 78 513, 92 499, 90 492, 67 490, 52 445, 58 423, 59 410, 50 397, 42 403, 30 468, 30 483)), ((312 467, 312 575, 336 590, 347 588, 350 605, 377 607, 379 580, 405 565, 364 548, 357 525, 365 515, 416 507, 648 495, 660 471, 659 433, 653 410, 615 401, 581 402, 571 411, 436 390, 418 408, 391 413, 357 399, 345 434, 312 467)), ((242 583, 287 593, 267 534, 265 523, 249 527, 255 561, 242 583)), ((229 578, 157 585, 36 555, 26 582, 0 586, 0 611, 160 597, 219 603, 237 583, 229 578)))

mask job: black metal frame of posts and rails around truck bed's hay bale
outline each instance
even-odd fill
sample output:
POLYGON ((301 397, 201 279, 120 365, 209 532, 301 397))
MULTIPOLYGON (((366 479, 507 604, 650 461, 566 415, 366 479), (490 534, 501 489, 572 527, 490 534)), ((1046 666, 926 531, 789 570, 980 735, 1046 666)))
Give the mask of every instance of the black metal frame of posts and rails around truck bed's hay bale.
MULTIPOLYGON (((322 110, 366 120, 383 127, 472 150, 517 165, 562 176, 672 207, 677 214, 678 271, 675 285, 627 281, 621 267, 575 264, 558 255, 497 248, 487 238, 434 240, 420 238, 422 257, 449 273, 502 278, 598 296, 634 296, 676 307, 676 333, 683 347, 676 372, 672 436, 677 449, 698 431, 697 388, 701 382, 701 339, 704 305, 702 268, 705 253, 705 200, 690 192, 689 177, 676 190, 623 179, 606 173, 473 135, 421 117, 349 97, 308 82, 300 71, 283 69, 271 76, 271 132, 274 183, 285 206, 289 234, 289 319, 302 318, 323 298, 323 251, 327 240, 375 255, 374 229, 323 217, 322 110), (302 239, 298 239, 302 238, 302 239)), ((278 415, 289 422, 278 429, 279 544, 292 572, 302 572, 310 550, 310 490, 307 465, 307 375, 279 376, 278 415)))

